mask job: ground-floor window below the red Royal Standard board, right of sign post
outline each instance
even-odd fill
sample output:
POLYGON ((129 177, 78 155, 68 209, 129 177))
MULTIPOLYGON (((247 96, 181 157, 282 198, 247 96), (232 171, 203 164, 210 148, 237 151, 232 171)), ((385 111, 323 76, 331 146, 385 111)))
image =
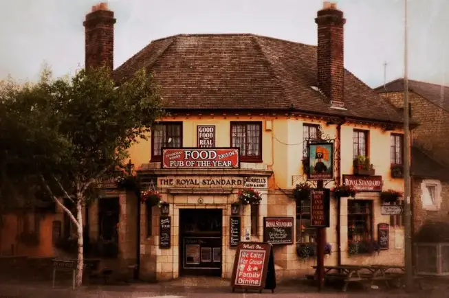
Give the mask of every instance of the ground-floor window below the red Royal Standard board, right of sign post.
POLYGON ((348 200, 348 241, 373 238, 373 201, 348 200))

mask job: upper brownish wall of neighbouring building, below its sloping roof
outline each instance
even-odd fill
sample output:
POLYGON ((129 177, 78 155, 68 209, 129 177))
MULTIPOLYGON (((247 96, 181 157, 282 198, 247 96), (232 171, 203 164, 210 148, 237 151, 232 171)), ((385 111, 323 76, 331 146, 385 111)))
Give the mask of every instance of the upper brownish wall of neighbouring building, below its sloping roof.
MULTIPOLYGON (((383 98, 397 108, 404 105, 403 92, 381 93, 383 98)), ((437 161, 449 164, 449 112, 443 111, 432 102, 410 92, 408 101, 411 104, 412 119, 419 122, 413 130, 413 144, 419 145, 434 154, 437 161)))

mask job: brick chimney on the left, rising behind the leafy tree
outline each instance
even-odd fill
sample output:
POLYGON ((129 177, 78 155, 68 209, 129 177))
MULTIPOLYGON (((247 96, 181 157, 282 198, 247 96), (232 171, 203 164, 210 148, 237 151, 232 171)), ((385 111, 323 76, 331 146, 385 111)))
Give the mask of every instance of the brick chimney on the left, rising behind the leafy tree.
POLYGON ((96 69, 106 66, 113 70, 114 51, 114 13, 108 9, 107 3, 92 6, 86 15, 85 27, 85 67, 96 69))

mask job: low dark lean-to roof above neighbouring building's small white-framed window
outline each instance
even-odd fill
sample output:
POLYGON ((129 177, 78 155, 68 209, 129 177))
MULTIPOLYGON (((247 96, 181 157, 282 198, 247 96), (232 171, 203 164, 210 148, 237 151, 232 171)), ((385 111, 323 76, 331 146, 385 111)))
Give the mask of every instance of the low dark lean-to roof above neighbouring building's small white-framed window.
POLYGON ((449 181, 449 168, 416 146, 411 148, 412 161, 410 171, 413 176, 449 181))

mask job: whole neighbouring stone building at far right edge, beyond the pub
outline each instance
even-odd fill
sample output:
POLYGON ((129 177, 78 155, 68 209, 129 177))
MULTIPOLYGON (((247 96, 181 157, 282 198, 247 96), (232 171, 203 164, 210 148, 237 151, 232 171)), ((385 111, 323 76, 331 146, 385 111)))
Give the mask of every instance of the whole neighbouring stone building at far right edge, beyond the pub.
MULTIPOLYGON (((410 116, 419 122, 411 151, 413 231, 417 270, 449 275, 449 87, 409 80, 410 116)), ((375 89, 397 108, 404 80, 375 89)))

